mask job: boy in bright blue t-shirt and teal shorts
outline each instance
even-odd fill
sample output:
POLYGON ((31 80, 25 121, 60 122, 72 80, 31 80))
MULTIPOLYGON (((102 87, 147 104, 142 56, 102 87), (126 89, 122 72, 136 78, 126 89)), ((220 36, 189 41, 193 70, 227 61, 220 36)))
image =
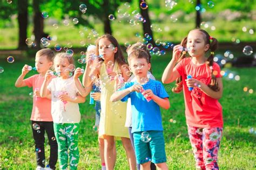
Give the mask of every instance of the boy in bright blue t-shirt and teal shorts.
POLYGON ((170 108, 169 95, 159 81, 147 79, 147 71, 151 65, 145 51, 133 51, 128 61, 136 82, 126 83, 111 96, 111 101, 124 102, 131 98, 132 133, 140 168, 150 169, 152 160, 159 169, 168 169, 160 107, 170 108))

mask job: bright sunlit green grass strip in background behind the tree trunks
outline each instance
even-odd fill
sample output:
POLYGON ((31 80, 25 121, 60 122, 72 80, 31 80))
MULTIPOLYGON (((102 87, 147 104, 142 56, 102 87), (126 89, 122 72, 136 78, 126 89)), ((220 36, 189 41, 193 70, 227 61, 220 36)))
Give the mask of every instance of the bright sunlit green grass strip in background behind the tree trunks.
MULTIPOLYGON (((153 24, 153 23, 152 23, 153 24)), ((172 23, 166 20, 164 23, 154 23, 162 30, 161 32, 153 32, 154 40, 161 39, 163 41, 171 41, 178 43, 184 37, 187 36, 188 31, 194 29, 194 21, 186 23, 172 23), (166 30, 167 29, 167 30, 166 30)), ((6 27, 0 28, 0 49, 16 49, 18 45, 18 27, 6 27)), ((52 41, 49 47, 54 47, 55 44, 60 44, 62 47, 67 46, 69 42, 73 44, 73 47, 82 47, 80 42, 84 41, 86 44, 92 44, 95 42, 95 38, 91 35, 91 39, 87 38, 91 32, 91 29, 84 29, 84 26, 73 27, 72 25, 64 26, 59 23, 59 28, 54 29, 52 24, 45 24, 44 32, 49 33, 51 36, 57 36, 56 41, 52 41), (79 31, 82 31, 84 36, 81 36, 79 31)), ((215 37, 219 42, 232 42, 231 39, 240 39, 241 42, 254 42, 256 34, 248 33, 249 29, 254 29, 255 25, 251 20, 242 20, 240 22, 226 22, 224 20, 214 20, 210 22, 208 28, 205 29, 212 37, 215 37), (211 26, 215 26, 216 30, 212 31, 211 26), (242 31, 242 27, 247 27, 247 32, 242 31)), ((121 45, 125 42, 131 44, 137 41, 142 41, 144 38, 142 31, 142 24, 131 26, 129 23, 122 21, 119 23, 117 20, 111 22, 113 36, 116 37, 121 45), (141 37, 136 37, 136 33, 139 33, 141 37)), ((95 30, 101 36, 103 32, 103 24, 95 23, 95 30)), ((28 38, 32 34, 32 26, 28 27, 28 38)))

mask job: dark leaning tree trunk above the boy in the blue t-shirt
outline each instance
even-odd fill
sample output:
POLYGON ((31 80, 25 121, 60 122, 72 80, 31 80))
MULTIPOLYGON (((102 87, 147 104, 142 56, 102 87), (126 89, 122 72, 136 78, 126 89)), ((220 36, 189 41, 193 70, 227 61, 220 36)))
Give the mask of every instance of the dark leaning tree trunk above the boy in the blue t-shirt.
MULTIPOLYGON (((143 1, 143 0, 140 0, 139 1, 139 5, 141 2, 146 2, 146 1, 143 1)), ((153 38, 153 32, 150 28, 151 26, 151 21, 150 21, 150 17, 149 17, 149 8, 147 9, 142 9, 140 8, 139 6, 139 9, 140 9, 140 14, 142 15, 142 17, 146 20, 145 23, 143 23, 143 33, 148 33, 150 34, 150 36, 152 37, 152 39, 149 41, 153 46, 155 46, 156 44, 154 43, 154 38, 153 38)))

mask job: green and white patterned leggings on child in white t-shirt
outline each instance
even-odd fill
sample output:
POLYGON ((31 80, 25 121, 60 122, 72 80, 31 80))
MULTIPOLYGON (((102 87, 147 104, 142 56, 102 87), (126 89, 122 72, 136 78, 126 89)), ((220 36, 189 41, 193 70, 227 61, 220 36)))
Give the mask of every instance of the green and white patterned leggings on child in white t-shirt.
POLYGON ((77 169, 79 161, 79 123, 54 123, 53 128, 58 143, 60 169, 68 169, 68 164, 70 165, 70 169, 77 169))

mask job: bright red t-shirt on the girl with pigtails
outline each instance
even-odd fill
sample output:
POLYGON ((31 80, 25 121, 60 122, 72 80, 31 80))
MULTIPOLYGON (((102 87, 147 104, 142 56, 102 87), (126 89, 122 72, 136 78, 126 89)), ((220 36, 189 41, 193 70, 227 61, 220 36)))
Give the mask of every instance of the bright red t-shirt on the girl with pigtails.
MULTIPOLYGON (((216 128, 223 127, 222 107, 219 101, 215 98, 207 96, 200 88, 195 87, 192 91, 188 91, 185 79, 187 75, 192 75, 205 84, 211 83, 211 69, 207 64, 195 65, 192 58, 181 60, 176 69, 182 76, 183 91, 185 98, 185 114, 187 125, 198 128, 216 128)), ((213 62, 213 72, 216 73, 216 78, 221 77, 220 67, 213 62)))

